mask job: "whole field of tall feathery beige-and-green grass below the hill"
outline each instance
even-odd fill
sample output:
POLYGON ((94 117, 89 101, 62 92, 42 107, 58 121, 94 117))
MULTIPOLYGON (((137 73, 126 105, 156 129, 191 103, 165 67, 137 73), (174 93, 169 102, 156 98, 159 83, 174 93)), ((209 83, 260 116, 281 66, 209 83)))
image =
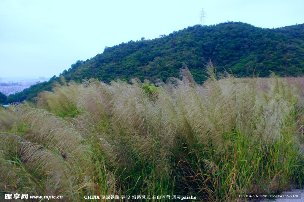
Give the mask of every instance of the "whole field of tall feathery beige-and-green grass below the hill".
POLYGON ((0 189, 233 201, 303 185, 303 78, 234 78, 211 63, 166 83, 57 84, 0 109, 0 189))

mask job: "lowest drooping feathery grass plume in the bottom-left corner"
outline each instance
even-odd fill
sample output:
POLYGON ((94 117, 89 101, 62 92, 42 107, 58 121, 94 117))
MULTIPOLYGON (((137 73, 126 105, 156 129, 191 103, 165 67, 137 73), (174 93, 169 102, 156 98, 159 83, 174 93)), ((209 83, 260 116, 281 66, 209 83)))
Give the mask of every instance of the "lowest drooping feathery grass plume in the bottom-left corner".
MULTIPOLYGON (((2 161, 12 166, 13 169, 20 167, 19 172, 22 172, 21 175, 26 176, 25 179, 16 179, 13 175, 10 175, 9 179, 6 180, 12 180, 11 183, 13 184, 19 182, 20 185, 25 183, 25 185, 31 185, 29 187, 35 186, 36 193, 40 193, 41 195, 47 194, 47 191, 50 193, 61 193, 61 191, 64 191, 67 194, 65 191, 66 183, 70 177, 70 170, 64 165, 59 155, 45 149, 43 146, 26 141, 15 134, 0 133, 0 136, 1 148, 4 149, 6 156, 6 160, 3 160, 2 157, 2 161), (9 145, 7 145, 8 143, 9 145), (18 158, 15 155, 21 155, 21 157, 18 158), (41 169, 43 173, 33 173, 34 168, 41 169), (43 178, 47 178, 45 182, 51 183, 54 181, 54 183, 52 186, 47 187, 47 184, 41 183, 43 178), (55 184, 56 186, 54 186, 55 184)), ((8 165, 5 166, 7 169, 8 165)), ((7 170, 7 173, 10 172, 7 170)))

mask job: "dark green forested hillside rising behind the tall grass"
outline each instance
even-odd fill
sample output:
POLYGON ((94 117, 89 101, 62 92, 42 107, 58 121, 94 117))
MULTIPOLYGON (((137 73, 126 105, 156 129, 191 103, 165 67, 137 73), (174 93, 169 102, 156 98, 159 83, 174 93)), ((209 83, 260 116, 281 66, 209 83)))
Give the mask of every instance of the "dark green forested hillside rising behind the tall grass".
MULTIPOLYGON (((103 40, 103 39, 96 39, 103 40)), ((97 78, 110 82, 117 78, 130 81, 137 77, 152 82, 177 77, 185 63, 198 83, 204 80, 204 65, 211 59, 218 71, 231 69, 237 77, 259 74, 279 76, 304 74, 304 24, 276 29, 262 29, 246 23, 221 23, 213 26, 195 25, 160 35, 154 40, 129 41, 106 47, 102 54, 86 61, 77 61, 62 75, 67 81, 81 82, 97 78)), ((53 77, 24 92, 8 97, 12 103, 32 99, 41 90, 50 90, 53 77)))

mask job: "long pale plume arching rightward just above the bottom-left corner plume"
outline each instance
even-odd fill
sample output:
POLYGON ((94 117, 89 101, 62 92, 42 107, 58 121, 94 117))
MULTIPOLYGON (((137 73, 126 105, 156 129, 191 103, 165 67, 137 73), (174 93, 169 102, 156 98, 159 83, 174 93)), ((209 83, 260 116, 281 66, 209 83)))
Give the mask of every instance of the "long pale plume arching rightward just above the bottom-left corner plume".
POLYGON ((55 146, 68 162, 77 162, 78 169, 89 168, 87 160, 89 145, 78 131, 67 126, 60 117, 44 110, 35 110, 22 104, 16 107, 18 112, 23 112, 21 120, 30 124, 36 131, 35 138, 39 138, 47 145, 55 146), (49 124, 52 123, 52 124, 49 124))

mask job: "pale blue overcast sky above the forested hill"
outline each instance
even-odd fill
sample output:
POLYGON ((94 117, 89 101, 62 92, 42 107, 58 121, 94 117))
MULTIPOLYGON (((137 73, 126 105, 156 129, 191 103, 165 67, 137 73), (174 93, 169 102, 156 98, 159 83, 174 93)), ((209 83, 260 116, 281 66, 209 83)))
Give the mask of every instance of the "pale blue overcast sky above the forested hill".
POLYGON ((0 0, 0 77, 52 77, 77 60, 200 23, 304 23, 303 0, 0 0))

